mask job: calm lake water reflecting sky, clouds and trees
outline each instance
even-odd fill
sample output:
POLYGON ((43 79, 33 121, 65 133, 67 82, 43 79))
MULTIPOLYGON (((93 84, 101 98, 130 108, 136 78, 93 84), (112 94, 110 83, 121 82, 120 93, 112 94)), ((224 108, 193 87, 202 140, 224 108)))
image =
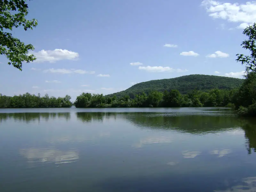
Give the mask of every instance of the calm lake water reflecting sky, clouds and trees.
POLYGON ((256 191, 255 148, 225 108, 0 109, 0 191, 256 191))

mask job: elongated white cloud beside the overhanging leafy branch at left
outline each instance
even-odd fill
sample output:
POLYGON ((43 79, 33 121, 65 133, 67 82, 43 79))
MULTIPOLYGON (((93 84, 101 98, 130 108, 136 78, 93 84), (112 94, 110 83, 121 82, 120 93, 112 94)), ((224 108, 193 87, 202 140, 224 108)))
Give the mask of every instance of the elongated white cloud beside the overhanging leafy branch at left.
POLYGON ((59 60, 76 60, 79 57, 77 52, 68 51, 66 49, 41 50, 39 52, 31 52, 36 57, 34 62, 50 62, 54 63, 59 60))

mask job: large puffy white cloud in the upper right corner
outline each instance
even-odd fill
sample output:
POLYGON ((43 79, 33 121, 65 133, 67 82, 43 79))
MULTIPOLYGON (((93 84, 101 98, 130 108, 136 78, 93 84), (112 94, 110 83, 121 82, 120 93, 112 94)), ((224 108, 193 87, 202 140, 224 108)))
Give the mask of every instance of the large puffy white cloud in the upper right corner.
POLYGON ((256 2, 220 3, 214 0, 204 0, 202 5, 213 19, 223 19, 240 23, 236 28, 246 28, 256 20, 256 2))

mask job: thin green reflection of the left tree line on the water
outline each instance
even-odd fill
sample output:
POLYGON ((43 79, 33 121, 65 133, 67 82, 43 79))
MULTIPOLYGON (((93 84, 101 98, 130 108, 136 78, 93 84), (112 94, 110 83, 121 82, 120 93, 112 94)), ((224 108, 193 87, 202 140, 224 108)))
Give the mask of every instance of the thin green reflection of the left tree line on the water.
POLYGON ((70 119, 70 112, 65 113, 0 113, 0 122, 7 119, 14 119, 22 122, 40 122, 41 119, 48 121, 49 119, 64 118, 67 121, 70 119))

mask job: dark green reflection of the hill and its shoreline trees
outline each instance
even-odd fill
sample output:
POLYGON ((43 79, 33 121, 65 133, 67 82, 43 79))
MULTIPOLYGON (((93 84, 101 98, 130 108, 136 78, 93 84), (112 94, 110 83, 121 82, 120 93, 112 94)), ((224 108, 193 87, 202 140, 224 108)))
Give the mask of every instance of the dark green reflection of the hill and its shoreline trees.
POLYGON ((83 122, 103 121, 104 119, 122 118, 145 129, 161 131, 181 131, 192 134, 220 132, 240 127, 234 116, 177 116, 169 113, 76 113, 77 119, 83 122), (172 116, 171 116, 172 115, 172 116))

